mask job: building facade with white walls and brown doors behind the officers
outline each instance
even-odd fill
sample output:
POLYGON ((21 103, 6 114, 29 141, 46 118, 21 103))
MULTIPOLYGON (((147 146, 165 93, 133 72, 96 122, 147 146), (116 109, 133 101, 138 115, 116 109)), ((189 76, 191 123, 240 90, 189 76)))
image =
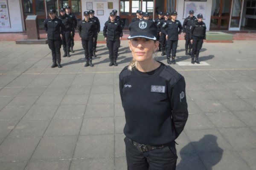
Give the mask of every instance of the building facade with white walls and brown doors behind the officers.
POLYGON ((0 0, 0 32, 22 32, 26 30, 26 17, 37 15, 39 28, 42 29, 47 11, 55 8, 57 16, 62 7, 70 6, 78 20, 83 12, 93 9, 101 23, 101 30, 109 13, 116 9, 128 28, 138 9, 156 18, 159 11, 177 11, 177 20, 195 11, 195 16, 203 14, 207 31, 256 29, 256 0, 0 0))

